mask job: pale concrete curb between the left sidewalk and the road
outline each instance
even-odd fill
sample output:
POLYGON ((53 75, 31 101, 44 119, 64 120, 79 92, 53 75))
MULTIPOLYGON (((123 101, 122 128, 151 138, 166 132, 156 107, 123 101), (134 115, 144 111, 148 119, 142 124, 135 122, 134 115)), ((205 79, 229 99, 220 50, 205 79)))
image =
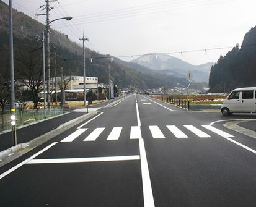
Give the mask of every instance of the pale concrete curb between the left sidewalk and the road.
POLYGON ((89 119, 90 117, 97 114, 97 112, 91 112, 89 114, 84 114, 80 117, 77 117, 76 119, 69 120, 68 122, 59 125, 56 129, 51 130, 50 132, 47 132, 40 137, 34 138, 33 140, 30 140, 27 143, 20 143, 17 146, 12 146, 11 148, 8 148, 7 150, 0 152, 0 167, 4 164, 7 164, 11 162, 12 160, 19 158, 22 154, 25 154, 29 152, 30 150, 33 150, 33 148, 36 148, 39 145, 42 145, 43 143, 47 142, 51 138, 56 137, 56 135, 59 135, 60 133, 70 129, 71 127, 74 127, 74 125, 79 124, 80 122, 89 119))

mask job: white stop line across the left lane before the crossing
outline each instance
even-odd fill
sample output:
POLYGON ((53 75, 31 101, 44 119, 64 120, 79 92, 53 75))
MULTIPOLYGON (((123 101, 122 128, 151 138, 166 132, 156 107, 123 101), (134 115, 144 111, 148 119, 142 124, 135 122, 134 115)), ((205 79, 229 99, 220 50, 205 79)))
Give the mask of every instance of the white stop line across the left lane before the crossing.
POLYGON ((32 159, 27 164, 51 164, 51 163, 92 163, 92 162, 109 162, 109 161, 129 161, 139 160, 139 155, 131 156, 109 156, 94 158, 60 158, 60 159, 32 159))

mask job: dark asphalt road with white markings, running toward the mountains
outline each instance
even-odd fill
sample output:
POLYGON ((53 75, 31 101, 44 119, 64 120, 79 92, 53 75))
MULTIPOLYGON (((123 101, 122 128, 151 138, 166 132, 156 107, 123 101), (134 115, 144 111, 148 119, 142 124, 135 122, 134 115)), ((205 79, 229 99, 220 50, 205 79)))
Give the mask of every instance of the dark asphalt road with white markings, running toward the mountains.
POLYGON ((256 140, 239 114, 130 95, 0 168, 0 206, 255 206, 256 140))

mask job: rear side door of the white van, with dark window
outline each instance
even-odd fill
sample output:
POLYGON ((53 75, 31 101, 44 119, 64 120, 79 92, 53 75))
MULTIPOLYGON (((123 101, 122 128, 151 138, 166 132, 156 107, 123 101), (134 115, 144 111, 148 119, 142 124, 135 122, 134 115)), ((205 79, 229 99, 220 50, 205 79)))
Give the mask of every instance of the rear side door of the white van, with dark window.
POLYGON ((245 90, 241 91, 241 112, 255 112, 255 91, 245 90))

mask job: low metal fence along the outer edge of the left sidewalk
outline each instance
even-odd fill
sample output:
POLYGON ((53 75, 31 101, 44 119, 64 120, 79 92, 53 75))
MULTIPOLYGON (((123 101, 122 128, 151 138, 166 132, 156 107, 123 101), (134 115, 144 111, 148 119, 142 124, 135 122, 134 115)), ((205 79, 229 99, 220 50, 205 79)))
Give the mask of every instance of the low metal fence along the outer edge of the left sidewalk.
MULTIPOLYGON (((27 109, 24 111, 16 111, 16 126, 29 124, 38 120, 46 119, 48 117, 63 114, 62 108, 51 108, 51 109, 27 109)), ((11 126, 11 114, 0 115, 0 131, 12 129, 11 126)))

